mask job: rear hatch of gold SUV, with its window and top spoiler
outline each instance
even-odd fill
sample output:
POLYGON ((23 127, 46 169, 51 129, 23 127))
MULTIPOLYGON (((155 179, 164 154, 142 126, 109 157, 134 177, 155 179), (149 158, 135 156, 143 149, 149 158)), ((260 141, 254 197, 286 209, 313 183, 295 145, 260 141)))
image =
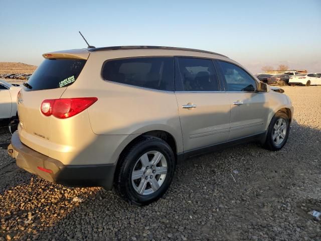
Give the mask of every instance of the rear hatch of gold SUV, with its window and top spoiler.
MULTIPOLYGON (((87 52, 88 53, 88 52, 87 52)), ((81 73, 86 55, 44 54, 46 58, 18 94, 19 137, 28 147, 49 156, 52 116, 41 112, 45 99, 59 99, 81 73), (63 58, 62 58, 63 57, 63 58)))

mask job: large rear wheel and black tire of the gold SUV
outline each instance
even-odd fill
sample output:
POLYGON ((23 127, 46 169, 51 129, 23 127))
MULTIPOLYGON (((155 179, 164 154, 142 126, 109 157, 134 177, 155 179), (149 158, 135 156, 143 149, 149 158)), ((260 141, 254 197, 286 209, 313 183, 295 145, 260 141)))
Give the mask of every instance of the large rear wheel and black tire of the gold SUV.
POLYGON ((114 179, 116 192, 124 200, 137 206, 147 205, 161 198, 169 188, 176 168, 171 147, 162 139, 150 136, 143 136, 119 161, 114 179), (152 165, 157 158, 157 164, 152 165))

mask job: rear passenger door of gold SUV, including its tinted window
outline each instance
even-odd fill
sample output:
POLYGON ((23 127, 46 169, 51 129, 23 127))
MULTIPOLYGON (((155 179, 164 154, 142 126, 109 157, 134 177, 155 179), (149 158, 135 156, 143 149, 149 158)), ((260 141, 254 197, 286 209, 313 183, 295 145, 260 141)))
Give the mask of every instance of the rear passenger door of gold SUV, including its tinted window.
POLYGON ((177 57, 175 81, 184 152, 226 142, 230 104, 213 61, 177 57))

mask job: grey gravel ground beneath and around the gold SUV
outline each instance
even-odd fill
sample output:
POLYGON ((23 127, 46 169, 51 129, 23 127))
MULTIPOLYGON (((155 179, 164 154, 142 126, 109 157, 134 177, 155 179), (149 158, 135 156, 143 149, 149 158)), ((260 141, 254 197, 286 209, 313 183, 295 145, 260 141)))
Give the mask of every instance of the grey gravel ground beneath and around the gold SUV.
POLYGON ((247 144, 191 159, 145 207, 51 184, 0 148, 0 240, 321 240, 308 214, 321 211, 321 86, 284 90, 295 113, 282 150, 247 144))

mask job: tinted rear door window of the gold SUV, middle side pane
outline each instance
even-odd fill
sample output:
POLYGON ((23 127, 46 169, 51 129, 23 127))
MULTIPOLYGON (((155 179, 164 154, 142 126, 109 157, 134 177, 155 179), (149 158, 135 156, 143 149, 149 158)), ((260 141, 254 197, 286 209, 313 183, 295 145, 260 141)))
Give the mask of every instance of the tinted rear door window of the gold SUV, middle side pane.
POLYGON ((219 91, 217 73, 210 59, 179 58, 185 91, 219 91))

